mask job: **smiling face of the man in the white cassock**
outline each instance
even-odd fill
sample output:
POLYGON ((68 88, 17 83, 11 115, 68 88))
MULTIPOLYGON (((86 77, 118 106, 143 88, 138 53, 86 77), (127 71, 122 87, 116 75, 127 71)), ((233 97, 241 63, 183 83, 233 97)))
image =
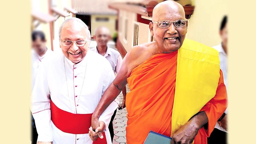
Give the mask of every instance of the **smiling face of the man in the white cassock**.
POLYGON ((89 43, 87 39, 88 37, 84 25, 76 20, 71 20, 63 25, 61 29, 60 41, 85 40, 87 43, 84 44, 84 46, 77 46, 74 42, 71 46, 64 46, 60 42, 60 48, 68 60, 78 63, 84 59, 88 51, 89 43))

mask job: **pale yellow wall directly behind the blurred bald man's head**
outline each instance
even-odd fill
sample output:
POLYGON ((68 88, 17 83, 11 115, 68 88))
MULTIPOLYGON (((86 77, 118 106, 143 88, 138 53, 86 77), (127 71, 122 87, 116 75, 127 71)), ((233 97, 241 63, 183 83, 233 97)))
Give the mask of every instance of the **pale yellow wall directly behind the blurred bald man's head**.
POLYGON ((95 29, 99 26, 105 26, 110 30, 110 35, 116 33, 117 15, 91 15, 91 35, 94 35, 95 29), (97 21, 96 18, 108 18, 108 21, 97 21))

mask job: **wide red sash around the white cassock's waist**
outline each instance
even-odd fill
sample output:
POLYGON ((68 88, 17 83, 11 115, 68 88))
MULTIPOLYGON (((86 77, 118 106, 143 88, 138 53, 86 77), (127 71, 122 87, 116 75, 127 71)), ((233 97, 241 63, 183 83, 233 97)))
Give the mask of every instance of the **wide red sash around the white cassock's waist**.
MULTIPOLYGON (((58 108, 51 100, 51 120, 62 132, 72 134, 89 133, 92 114, 73 114, 58 108)), ((107 144, 105 132, 103 139, 98 138, 93 144, 107 144)))

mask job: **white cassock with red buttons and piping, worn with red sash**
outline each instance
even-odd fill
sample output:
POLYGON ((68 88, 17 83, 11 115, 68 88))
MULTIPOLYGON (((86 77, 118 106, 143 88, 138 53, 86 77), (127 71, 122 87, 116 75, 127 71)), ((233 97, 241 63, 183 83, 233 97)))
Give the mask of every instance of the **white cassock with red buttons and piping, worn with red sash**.
MULTIPOLYGON (((51 95, 53 103, 64 111, 91 114, 114 78, 108 60, 94 52, 87 52, 84 60, 77 64, 68 60, 61 52, 44 60, 38 70, 32 92, 31 111, 35 118, 37 141, 53 141, 54 144, 92 144, 93 141, 88 133, 62 132, 52 123, 49 97, 51 95)), ((111 144, 108 124, 116 108, 117 103, 113 101, 99 118, 106 124, 105 134, 108 144, 111 144)))

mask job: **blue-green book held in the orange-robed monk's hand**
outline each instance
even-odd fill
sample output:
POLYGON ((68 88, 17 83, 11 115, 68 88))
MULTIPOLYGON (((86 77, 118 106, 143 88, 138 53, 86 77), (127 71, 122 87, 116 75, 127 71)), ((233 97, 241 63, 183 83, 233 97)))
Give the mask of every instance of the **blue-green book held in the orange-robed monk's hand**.
POLYGON ((170 144, 172 138, 157 132, 150 131, 144 144, 170 144))

